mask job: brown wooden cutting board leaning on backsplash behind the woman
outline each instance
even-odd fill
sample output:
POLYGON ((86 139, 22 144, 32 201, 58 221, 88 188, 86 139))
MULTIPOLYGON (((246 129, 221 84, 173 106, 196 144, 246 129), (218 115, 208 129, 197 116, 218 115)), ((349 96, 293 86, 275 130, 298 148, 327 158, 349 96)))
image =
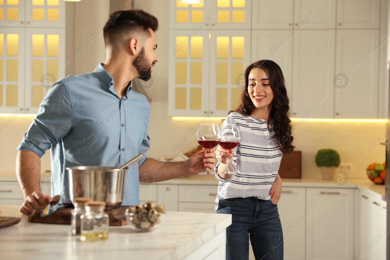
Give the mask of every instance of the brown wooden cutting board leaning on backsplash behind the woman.
POLYGON ((294 151, 284 154, 280 162, 279 175, 283 179, 301 179, 302 176, 302 152, 294 151))

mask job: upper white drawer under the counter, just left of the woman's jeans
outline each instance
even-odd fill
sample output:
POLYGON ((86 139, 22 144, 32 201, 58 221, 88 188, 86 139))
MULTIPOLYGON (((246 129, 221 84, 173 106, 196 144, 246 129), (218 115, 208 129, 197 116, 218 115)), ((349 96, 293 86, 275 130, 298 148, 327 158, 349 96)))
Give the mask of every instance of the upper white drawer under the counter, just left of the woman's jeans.
POLYGON ((218 186, 179 185, 179 202, 214 202, 218 186))

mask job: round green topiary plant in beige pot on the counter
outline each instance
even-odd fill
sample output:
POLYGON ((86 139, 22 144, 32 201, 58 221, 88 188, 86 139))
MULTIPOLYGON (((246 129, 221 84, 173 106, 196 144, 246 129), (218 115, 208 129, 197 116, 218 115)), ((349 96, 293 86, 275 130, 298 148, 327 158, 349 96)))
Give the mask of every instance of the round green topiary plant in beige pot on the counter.
POLYGON ((317 152, 316 164, 320 167, 323 180, 333 180, 336 168, 340 165, 340 155, 333 149, 321 149, 317 152))

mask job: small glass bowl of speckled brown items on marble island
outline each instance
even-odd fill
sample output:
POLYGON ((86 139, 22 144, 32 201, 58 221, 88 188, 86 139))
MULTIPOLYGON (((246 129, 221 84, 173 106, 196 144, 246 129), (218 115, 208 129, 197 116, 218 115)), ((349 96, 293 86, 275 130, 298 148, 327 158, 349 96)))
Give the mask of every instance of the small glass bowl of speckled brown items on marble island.
POLYGON ((164 212, 165 208, 163 205, 154 206, 153 202, 146 202, 143 206, 128 207, 125 215, 131 228, 137 231, 148 232, 161 226, 164 212))

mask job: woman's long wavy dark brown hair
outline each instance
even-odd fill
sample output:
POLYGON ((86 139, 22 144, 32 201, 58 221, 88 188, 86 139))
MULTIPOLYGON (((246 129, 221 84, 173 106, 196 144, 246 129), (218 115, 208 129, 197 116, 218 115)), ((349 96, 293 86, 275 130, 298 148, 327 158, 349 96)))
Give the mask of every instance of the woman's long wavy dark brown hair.
POLYGON ((291 136, 291 120, 289 119, 289 97, 284 83, 284 76, 279 65, 272 60, 259 60, 249 65, 245 70, 245 89, 243 89, 240 97, 241 104, 235 110, 229 111, 238 112, 246 116, 252 115, 255 105, 248 93, 249 73, 253 68, 263 69, 269 78, 269 85, 273 90, 273 99, 271 106, 271 119, 273 119, 274 140, 283 154, 290 154, 294 150, 293 136, 291 136))

